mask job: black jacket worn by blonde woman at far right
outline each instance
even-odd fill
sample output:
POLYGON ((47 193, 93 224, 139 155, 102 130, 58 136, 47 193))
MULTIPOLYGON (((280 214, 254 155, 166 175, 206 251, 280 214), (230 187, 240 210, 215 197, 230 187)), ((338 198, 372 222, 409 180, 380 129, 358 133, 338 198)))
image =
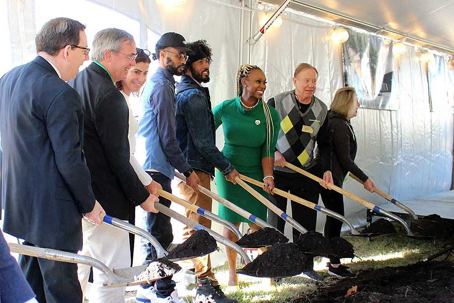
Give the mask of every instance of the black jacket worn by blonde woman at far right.
POLYGON ((365 182, 369 177, 355 164, 358 144, 350 121, 342 115, 329 111, 329 136, 332 144, 332 178, 342 186, 348 172, 365 182))

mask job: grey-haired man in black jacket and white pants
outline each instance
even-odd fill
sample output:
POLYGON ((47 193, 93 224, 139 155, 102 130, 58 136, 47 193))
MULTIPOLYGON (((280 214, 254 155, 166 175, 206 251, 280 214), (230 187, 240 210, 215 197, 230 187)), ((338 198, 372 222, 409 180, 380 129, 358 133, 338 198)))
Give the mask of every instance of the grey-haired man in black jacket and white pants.
MULTIPOLYGON (((150 194, 130 163, 128 105, 115 83, 126 79, 135 64, 136 44, 128 32, 107 28, 93 39, 93 62, 70 82, 82 97, 84 111, 84 152, 93 179, 96 200, 107 214, 128 220, 130 205, 140 205, 157 213, 150 194)), ((160 185, 156 182, 154 193, 160 185)), ((83 225, 82 254, 102 261, 108 267, 130 266, 129 235, 109 225, 83 225)), ((84 289, 88 268, 80 266, 79 279, 84 289)), ((125 288, 104 287, 106 277, 93 269, 90 301, 124 302, 125 288)))

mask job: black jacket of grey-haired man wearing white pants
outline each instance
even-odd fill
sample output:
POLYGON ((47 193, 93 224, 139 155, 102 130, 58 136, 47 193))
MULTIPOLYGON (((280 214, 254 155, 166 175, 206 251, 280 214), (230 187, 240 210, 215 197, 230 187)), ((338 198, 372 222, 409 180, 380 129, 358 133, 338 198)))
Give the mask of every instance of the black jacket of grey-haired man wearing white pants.
POLYGON ((137 206, 149 194, 129 162, 126 100, 96 63, 69 84, 82 98, 84 153, 96 200, 107 215, 128 220, 131 203, 137 206))

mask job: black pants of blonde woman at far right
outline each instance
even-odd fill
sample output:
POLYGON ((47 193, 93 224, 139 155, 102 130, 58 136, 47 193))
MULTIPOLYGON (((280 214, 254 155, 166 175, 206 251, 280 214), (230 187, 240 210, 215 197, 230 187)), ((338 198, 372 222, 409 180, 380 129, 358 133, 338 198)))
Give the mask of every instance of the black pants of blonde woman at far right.
MULTIPOLYGON (((342 181, 334 180, 334 185, 342 187, 342 181)), ((324 189, 320 190, 320 195, 323 201, 323 205, 330 211, 333 211, 339 215, 344 216, 344 196, 334 190, 324 189)), ((327 238, 338 237, 341 235, 342 221, 326 216, 325 227, 323 228, 323 234, 327 238)), ((329 259, 331 264, 340 264, 341 259, 331 258, 329 259)))

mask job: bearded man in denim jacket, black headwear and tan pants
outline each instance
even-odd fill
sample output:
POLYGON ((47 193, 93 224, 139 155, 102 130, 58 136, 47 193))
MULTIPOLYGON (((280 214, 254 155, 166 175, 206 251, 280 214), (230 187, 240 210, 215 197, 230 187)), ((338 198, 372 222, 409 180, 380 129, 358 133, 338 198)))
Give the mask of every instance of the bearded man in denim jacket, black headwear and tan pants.
MULTIPOLYGON (((205 40, 188 43, 188 47, 194 54, 187 60, 185 74, 177 85, 177 138, 183 154, 199 176, 202 186, 209 189, 210 179, 214 176, 214 167, 232 182, 235 182, 239 174, 216 147, 210 93, 207 87, 201 85, 210 81, 211 48, 205 40)), ((194 192, 184 182, 178 185, 178 189, 185 200, 211 211, 210 197, 201 192, 194 192)), ((187 210, 186 216, 208 228, 211 227, 211 221, 197 213, 187 210)), ((185 238, 194 233, 194 230, 188 226, 184 231, 185 238)), ((225 296, 220 289, 211 271, 209 255, 194 258, 191 261, 197 276, 196 301, 199 301, 201 295, 205 297, 211 295, 212 301, 216 303, 237 302, 225 296)))

